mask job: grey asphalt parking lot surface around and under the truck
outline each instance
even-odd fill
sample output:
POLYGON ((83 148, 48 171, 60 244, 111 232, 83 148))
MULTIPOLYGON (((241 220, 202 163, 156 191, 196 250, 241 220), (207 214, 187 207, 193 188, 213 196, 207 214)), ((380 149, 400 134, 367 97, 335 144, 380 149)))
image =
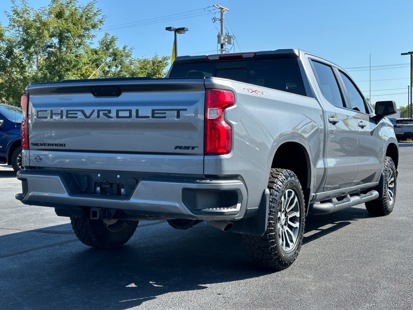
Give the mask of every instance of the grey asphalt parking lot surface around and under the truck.
POLYGON ((400 143, 396 205, 307 218, 281 272, 250 265, 240 235, 141 222, 120 250, 95 250, 52 208, 15 200, 0 165, 1 309, 413 309, 413 142, 400 143))

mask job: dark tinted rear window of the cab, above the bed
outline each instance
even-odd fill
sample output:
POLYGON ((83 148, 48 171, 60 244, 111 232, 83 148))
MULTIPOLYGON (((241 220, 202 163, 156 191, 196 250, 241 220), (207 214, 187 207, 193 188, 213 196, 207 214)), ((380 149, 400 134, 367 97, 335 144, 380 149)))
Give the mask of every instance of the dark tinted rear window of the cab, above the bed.
POLYGON ((298 58, 174 64, 169 77, 219 77, 297 95, 307 95, 298 58))

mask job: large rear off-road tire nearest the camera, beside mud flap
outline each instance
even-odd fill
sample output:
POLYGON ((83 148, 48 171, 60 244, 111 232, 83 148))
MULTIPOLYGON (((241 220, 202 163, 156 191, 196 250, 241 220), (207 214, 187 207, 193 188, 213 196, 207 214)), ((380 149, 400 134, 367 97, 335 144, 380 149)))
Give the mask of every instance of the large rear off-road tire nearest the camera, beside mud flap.
MULTIPOLYGON (((247 256, 255 264, 268 269, 282 270, 294 262, 301 248, 305 224, 304 195, 297 176, 294 172, 286 169, 271 169, 268 189, 270 191, 270 204, 267 231, 263 236, 242 235, 242 243, 247 256), (280 216, 280 211, 283 209, 282 205, 285 205, 284 198, 288 195, 293 195, 290 196, 288 205, 290 205, 291 197, 297 198, 295 203, 295 200, 292 202, 293 209, 290 210, 298 210, 299 215, 294 217, 294 224, 298 223, 297 230, 293 228, 296 235, 295 242, 291 249, 286 251, 282 246, 282 237, 279 232, 282 229, 280 227, 285 224, 285 217, 280 216)), ((290 217, 287 218, 286 226, 288 223, 290 223, 290 217)), ((290 236, 292 235, 290 234, 290 236)))

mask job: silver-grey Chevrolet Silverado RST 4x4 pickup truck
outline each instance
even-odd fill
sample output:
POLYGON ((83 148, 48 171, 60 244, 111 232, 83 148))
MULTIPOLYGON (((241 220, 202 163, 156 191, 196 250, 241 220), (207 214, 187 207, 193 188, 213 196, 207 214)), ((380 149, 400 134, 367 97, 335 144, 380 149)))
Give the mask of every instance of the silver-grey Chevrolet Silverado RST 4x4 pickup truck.
POLYGON ((166 79, 31 84, 21 106, 16 198, 70 217, 95 248, 122 246, 142 220, 206 221, 284 269, 309 213, 394 207, 394 101, 373 111, 342 68, 302 50, 178 57, 166 79))

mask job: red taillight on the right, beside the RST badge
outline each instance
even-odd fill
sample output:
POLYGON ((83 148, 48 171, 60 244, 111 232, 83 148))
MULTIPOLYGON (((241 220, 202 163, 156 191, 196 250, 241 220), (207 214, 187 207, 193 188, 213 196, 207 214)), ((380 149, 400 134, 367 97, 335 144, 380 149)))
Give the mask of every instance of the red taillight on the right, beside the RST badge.
POLYGON ((207 89, 205 104, 205 155, 224 155, 231 152, 232 128, 224 119, 224 110, 234 105, 234 93, 207 89))

